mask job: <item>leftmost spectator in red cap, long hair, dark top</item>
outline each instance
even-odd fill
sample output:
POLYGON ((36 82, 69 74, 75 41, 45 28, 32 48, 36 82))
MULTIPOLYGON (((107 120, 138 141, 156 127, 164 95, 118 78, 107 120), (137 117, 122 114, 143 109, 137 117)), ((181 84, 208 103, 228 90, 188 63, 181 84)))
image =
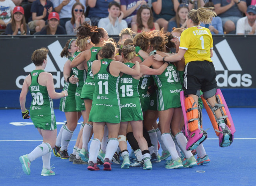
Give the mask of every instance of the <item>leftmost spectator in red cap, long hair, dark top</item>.
POLYGON ((14 7, 11 22, 7 24, 5 34, 30 35, 30 29, 24 17, 24 9, 21 6, 14 7))

